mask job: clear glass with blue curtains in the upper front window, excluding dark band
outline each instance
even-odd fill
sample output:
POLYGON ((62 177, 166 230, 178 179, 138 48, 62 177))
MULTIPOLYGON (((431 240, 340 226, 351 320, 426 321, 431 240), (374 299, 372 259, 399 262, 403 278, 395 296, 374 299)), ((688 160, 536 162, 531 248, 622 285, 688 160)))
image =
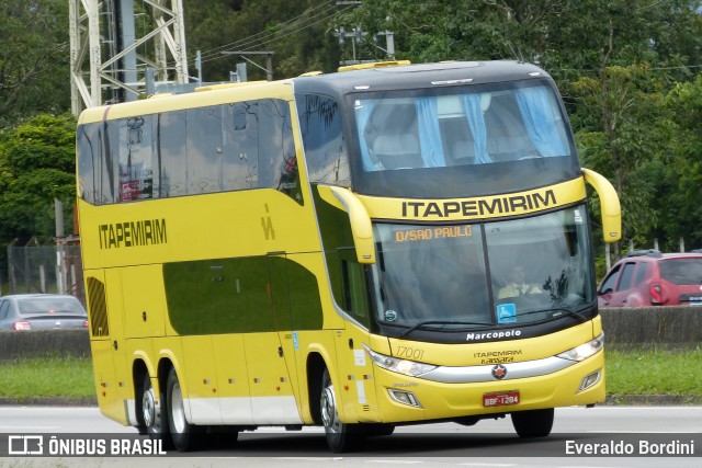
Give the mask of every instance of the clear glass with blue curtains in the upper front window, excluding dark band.
POLYGON ((354 100, 363 170, 486 164, 568 156, 545 85, 354 100))

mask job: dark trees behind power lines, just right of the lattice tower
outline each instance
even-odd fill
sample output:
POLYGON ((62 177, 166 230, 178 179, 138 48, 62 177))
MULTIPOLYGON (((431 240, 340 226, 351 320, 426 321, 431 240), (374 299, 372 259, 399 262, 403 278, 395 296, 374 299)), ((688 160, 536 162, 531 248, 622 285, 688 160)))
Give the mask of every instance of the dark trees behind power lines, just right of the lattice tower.
MULTIPOLYGON (((223 52, 273 52, 274 78, 290 78, 312 70, 338 67, 337 39, 327 23, 339 11, 329 0, 184 0, 188 49, 202 52, 204 80, 229 79, 238 55, 223 52)), ((261 57, 246 56, 248 78, 265 79, 261 57)))

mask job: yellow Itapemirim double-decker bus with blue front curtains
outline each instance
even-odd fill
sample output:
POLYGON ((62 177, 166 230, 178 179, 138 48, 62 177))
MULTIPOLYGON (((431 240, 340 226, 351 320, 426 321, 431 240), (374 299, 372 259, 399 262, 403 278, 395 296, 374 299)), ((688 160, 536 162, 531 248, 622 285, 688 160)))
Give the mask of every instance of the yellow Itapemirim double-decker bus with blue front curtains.
POLYGON ((551 77, 364 64, 84 111, 78 209, 102 412, 186 450, 604 400, 586 183, 551 77), (525 290, 521 287, 525 286, 525 290))

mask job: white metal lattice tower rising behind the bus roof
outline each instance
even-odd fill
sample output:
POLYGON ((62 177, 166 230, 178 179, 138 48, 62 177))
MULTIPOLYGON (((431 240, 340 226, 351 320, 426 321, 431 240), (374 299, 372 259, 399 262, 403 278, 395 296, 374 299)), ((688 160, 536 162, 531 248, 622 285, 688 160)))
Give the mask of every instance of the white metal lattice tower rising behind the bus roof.
POLYGON ((147 71, 189 81, 182 0, 68 0, 71 110, 134 101, 147 71))

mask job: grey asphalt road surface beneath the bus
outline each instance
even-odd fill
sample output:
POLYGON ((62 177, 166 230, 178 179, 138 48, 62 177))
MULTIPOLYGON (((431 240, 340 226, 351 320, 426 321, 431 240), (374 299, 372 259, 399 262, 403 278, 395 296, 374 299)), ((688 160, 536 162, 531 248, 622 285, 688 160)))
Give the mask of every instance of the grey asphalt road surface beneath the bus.
MULTIPOLYGON (((45 438, 131 437, 124 427, 97 408, 0 407, 0 434, 42 434, 45 438)), ((2 441, 0 438, 0 441, 2 441)), ((8 442, 2 441, 2 444, 8 442)), ((0 446, 0 452, 5 447, 0 446)), ((556 410, 553 434, 543 440, 520 440, 509 418, 482 421, 475 426, 453 423, 398 427, 389 437, 373 437, 359 454, 330 454, 318 427, 284 432, 264 427, 242 433, 234 447, 212 445, 186 455, 12 458, 4 466, 101 467, 320 467, 328 465, 426 467, 699 467, 702 466, 702 407, 598 407, 556 410), (663 445, 661 445, 663 444, 663 445), (631 449, 635 456, 584 456, 586 450, 631 449), (657 448, 661 447, 661 448, 657 448), (665 458, 652 450, 692 448, 693 457, 665 458), (641 453, 641 450, 644 453, 641 453), (579 454, 578 454, 579 453, 579 454)))

